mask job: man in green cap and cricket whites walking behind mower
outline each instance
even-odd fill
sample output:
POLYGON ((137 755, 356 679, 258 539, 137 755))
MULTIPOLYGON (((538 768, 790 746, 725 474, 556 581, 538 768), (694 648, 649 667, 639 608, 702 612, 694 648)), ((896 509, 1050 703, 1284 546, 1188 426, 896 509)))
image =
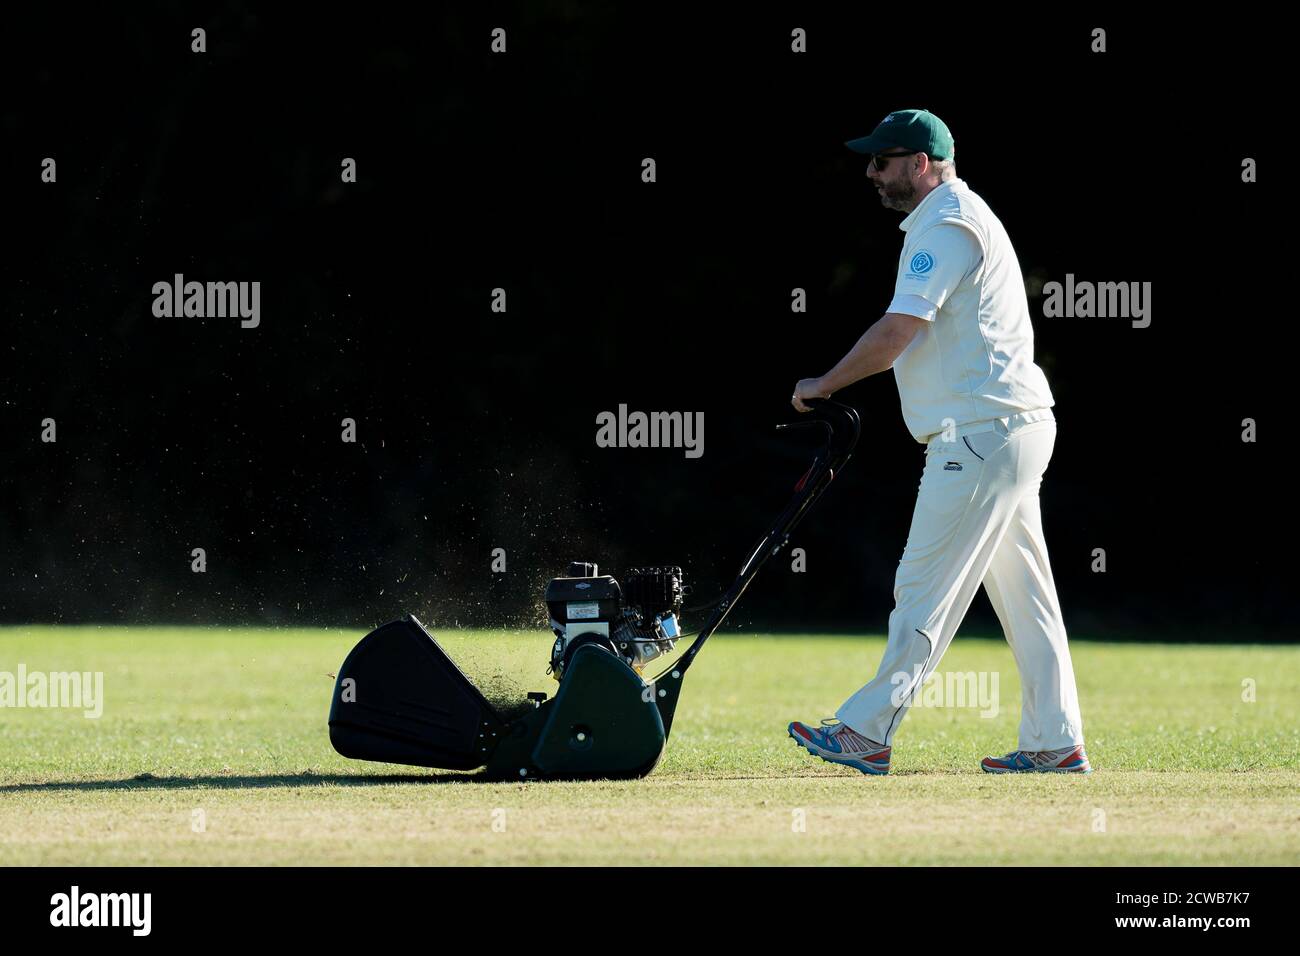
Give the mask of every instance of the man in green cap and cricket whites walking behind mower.
POLYGON ((1019 749, 988 773, 1088 773, 1070 648, 1039 516, 1056 442, 1054 405, 1034 363, 1034 328, 1006 230, 953 164, 948 126, 924 109, 887 116, 846 146, 907 213, 894 298, 884 317, 792 402, 828 398, 893 368, 904 420, 926 467, 894 580, 880 669, 820 727, 789 734, 810 753, 885 774, 894 732, 939 666, 983 583, 1020 672, 1019 749))

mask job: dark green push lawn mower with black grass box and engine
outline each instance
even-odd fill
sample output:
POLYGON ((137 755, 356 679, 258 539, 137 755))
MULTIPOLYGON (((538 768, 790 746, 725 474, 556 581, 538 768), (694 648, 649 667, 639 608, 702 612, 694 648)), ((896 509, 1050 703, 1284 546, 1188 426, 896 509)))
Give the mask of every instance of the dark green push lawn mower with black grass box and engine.
POLYGON ((575 562, 546 588, 555 644, 555 696, 529 693, 523 717, 503 718, 413 615, 372 631, 338 671, 329 735, 344 757, 446 770, 486 767, 490 778, 630 778, 654 770, 672 731, 681 683, 699 649, 745 588, 849 460, 858 414, 811 399, 806 420, 826 445, 794 497, 714 604, 686 652, 658 676, 642 671, 681 637, 686 585, 679 567, 634 568, 620 585, 597 564, 575 562))

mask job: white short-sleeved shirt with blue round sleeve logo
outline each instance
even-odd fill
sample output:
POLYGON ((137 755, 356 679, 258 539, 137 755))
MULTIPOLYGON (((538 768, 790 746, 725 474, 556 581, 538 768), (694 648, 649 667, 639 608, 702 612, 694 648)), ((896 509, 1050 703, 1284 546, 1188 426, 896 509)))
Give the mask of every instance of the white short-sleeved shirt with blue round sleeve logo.
POLYGON ((927 320, 893 364, 907 431, 927 442, 966 425, 1054 405, 1034 364, 1020 263, 1002 222, 962 179, 940 183, 902 221, 889 312, 927 320))

